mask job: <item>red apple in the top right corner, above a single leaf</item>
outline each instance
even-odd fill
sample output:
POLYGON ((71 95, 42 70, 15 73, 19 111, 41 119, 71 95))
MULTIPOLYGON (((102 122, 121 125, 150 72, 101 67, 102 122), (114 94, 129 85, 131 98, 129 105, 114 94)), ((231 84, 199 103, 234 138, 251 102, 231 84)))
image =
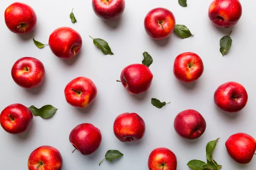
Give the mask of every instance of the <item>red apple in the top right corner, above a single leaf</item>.
POLYGON ((220 28, 236 25, 241 15, 242 6, 239 0, 213 0, 209 6, 209 19, 220 28))

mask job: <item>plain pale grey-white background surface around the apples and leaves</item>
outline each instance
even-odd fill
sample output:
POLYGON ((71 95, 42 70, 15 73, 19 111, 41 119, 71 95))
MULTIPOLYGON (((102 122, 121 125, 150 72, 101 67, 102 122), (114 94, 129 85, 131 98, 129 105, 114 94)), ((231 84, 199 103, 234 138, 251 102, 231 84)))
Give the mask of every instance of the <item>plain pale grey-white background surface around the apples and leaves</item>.
POLYGON ((178 0, 126 0, 122 18, 105 22, 93 12, 91 0, 23 0, 34 8, 38 23, 35 31, 27 35, 13 34, 4 23, 4 11, 12 1, 1 1, 0 11, 0 110, 13 103, 41 107, 51 104, 58 111, 51 119, 33 118, 30 130, 22 135, 10 135, 0 128, 0 170, 26 170, 29 154, 41 145, 56 147, 63 157, 62 170, 146 170, 148 155, 157 147, 168 147, 177 156, 177 170, 189 170, 191 159, 206 161, 207 142, 218 137, 214 159, 223 170, 253 170, 256 158, 246 165, 237 164, 227 154, 225 141, 239 132, 256 137, 255 90, 255 5, 256 1, 242 0, 243 14, 233 28, 220 29, 208 18, 211 0, 188 0, 188 7, 179 6, 178 0), (149 10, 165 7, 173 12, 177 24, 186 25, 194 37, 181 39, 172 34, 166 40, 155 41, 145 33, 143 21, 149 10), (70 21, 74 8, 77 23, 70 21), (81 34, 83 46, 80 54, 68 61, 55 57, 49 47, 38 49, 32 37, 48 43, 49 35, 61 26, 74 28, 81 34), (233 30, 233 45, 224 57, 219 52, 219 40, 233 30), (105 56, 93 45, 88 35, 106 40, 113 56, 105 56), (141 63, 147 51, 154 59, 150 66, 154 74, 151 88, 143 95, 128 94, 117 83, 122 69, 141 63), (204 62, 204 74, 195 83, 179 83, 172 67, 175 57, 183 52, 197 53, 204 62), (26 90, 18 87, 11 77, 11 68, 21 57, 35 57, 44 63, 46 79, 40 88, 26 90), (68 105, 64 88, 72 79, 84 76, 93 80, 98 88, 96 100, 85 109, 68 105), (238 114, 225 114, 213 102, 216 88, 228 81, 244 85, 249 95, 247 106, 238 114), (171 102, 162 109, 151 105, 151 98, 171 102), (177 113, 185 109, 199 111, 207 122, 203 136, 195 140, 180 138, 173 127, 177 113), (113 121, 121 113, 138 113, 145 121, 145 136, 139 142, 122 143, 113 134, 113 121), (76 125, 89 122, 102 132, 99 149, 83 156, 71 153, 69 133, 76 125), (107 150, 116 149, 124 156, 114 162, 101 161, 107 150))

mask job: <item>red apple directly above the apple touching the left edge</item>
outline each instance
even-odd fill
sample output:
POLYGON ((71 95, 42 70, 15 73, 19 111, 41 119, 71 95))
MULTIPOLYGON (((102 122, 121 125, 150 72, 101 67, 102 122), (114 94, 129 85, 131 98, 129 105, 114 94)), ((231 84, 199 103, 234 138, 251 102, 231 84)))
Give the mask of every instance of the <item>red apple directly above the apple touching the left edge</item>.
POLYGON ((43 63, 33 57, 20 58, 12 66, 12 79, 22 88, 37 88, 44 77, 43 63))

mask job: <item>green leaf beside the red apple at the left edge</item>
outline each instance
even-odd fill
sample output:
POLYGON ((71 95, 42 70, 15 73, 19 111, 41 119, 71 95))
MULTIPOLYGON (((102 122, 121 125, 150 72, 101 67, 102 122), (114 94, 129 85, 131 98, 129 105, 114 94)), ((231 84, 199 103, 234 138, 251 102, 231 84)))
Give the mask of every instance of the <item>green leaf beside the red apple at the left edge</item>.
POLYGON ((44 119, 52 117, 53 114, 58 110, 52 105, 45 105, 40 109, 36 108, 35 106, 30 106, 29 109, 33 113, 33 115, 40 116, 41 118, 44 118, 44 119))

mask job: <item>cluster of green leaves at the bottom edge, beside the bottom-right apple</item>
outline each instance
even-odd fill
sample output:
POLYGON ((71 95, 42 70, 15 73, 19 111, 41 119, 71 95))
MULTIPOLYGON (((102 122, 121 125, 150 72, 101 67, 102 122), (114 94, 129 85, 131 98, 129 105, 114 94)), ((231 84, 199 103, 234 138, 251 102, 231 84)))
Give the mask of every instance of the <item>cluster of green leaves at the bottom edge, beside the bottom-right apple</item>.
POLYGON ((200 160, 191 160, 187 164, 189 166, 189 168, 191 168, 192 170, 220 170, 222 166, 217 164, 217 162, 214 161, 212 158, 212 153, 216 147, 218 139, 216 139, 214 141, 210 141, 206 145, 207 163, 205 163, 204 161, 200 161, 200 160))

